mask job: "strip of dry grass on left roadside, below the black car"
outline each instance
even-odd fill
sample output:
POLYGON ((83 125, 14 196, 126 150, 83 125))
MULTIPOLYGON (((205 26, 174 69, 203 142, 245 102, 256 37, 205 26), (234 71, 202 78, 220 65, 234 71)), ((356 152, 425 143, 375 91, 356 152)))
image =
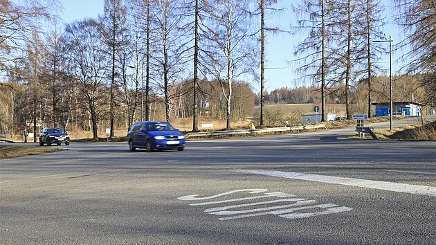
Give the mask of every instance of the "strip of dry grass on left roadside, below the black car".
POLYGON ((36 146, 0 145, 0 160, 19 156, 31 156, 44 153, 59 152, 65 149, 36 146))

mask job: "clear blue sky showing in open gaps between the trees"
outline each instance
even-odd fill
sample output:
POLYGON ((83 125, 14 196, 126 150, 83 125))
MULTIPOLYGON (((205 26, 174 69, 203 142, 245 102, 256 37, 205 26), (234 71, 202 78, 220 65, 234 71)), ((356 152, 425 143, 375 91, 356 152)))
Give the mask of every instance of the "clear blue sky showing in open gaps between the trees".
MULTIPOLYGON (((96 18, 99 14, 103 12, 104 0, 61 0, 64 10, 62 11, 61 18, 64 23, 70 23, 74 20, 80 20, 87 17, 96 18)), ((295 20, 293 17, 295 14, 291 11, 290 8, 290 0, 279 0, 277 8, 284 8, 284 11, 280 15, 276 15, 275 17, 268 20, 268 23, 275 24, 276 26, 280 26, 282 28, 289 28, 291 23, 295 24, 295 20)), ((386 8, 387 15, 390 11, 390 6, 393 5, 390 0, 381 0, 381 3, 386 8)), ((389 20, 388 20, 389 21, 389 20)), ((392 39, 399 39, 397 33, 397 28, 392 28, 391 24, 388 24, 387 30, 394 30, 394 33, 386 33, 386 36, 392 35, 392 39)), ((292 67, 290 63, 293 57, 293 49, 297 44, 297 40, 300 37, 298 36, 290 36, 287 34, 268 34, 266 37, 266 71, 265 78, 266 83, 265 87, 267 91, 272 91, 275 88, 280 87, 294 87, 295 83, 293 79, 296 74, 293 72, 295 67, 292 67)), ((384 43, 388 45, 388 43, 384 43)), ((383 45, 383 44, 380 44, 383 45)), ((389 68, 389 60, 388 54, 385 55, 385 58, 381 61, 381 66, 385 67, 388 70, 389 68)), ((397 56, 394 53, 392 55, 392 60, 396 60, 397 56)), ((393 64, 394 65, 394 64, 393 64)), ((394 73, 394 71, 392 72, 394 73)), ((253 89, 255 91, 259 91, 260 86, 258 84, 253 84, 253 89)))

